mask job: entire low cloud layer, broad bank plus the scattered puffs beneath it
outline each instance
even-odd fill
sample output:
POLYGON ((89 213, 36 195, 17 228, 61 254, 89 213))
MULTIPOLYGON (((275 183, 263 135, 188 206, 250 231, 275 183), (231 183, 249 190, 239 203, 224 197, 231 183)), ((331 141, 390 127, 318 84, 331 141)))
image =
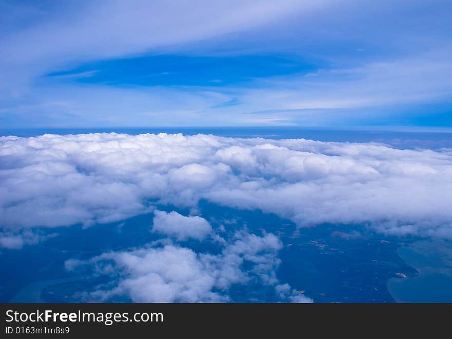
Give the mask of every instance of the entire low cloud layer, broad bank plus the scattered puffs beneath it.
POLYGON ((57 235, 46 227, 154 213, 150 231, 160 240, 66 262, 108 281, 81 292, 84 301, 253 300, 234 292, 245 286, 274 301, 312 301, 279 281, 277 236, 245 225, 214 228, 195 215, 201 199, 275 213, 299 227, 353 223, 452 238, 452 149, 202 134, 9 136, 0 137, 0 181, 6 248, 57 235), (165 205, 192 215, 156 209, 165 205))

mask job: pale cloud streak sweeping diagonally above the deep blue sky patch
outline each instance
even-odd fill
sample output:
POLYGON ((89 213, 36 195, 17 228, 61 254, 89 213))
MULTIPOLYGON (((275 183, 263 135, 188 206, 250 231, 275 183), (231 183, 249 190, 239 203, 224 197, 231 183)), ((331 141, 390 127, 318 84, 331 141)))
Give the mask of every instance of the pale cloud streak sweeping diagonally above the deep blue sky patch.
POLYGON ((295 0, 278 4, 268 0, 172 4, 133 0, 63 6, 42 11, 41 16, 30 15, 34 19, 31 25, 10 25, 16 29, 3 37, 2 45, 5 61, 14 63, 61 62, 74 55, 78 60, 111 58, 242 31, 326 5, 325 1, 295 0), (33 57, 28 53, 31 49, 33 57))

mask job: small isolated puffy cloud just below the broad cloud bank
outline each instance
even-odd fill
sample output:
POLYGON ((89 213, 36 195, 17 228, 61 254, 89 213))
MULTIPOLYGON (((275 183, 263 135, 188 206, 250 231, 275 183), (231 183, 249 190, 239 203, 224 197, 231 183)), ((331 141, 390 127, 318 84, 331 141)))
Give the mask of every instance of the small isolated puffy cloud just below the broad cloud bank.
POLYGON ((152 230, 182 241, 190 238, 202 240, 212 232, 207 220, 197 216, 185 217, 176 211, 166 213, 155 210, 152 230))

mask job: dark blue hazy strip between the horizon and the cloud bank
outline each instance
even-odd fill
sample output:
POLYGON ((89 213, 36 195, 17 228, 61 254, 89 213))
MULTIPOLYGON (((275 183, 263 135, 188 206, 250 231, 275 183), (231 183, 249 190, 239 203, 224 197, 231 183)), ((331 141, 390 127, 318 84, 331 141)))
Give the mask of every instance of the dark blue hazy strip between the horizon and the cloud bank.
POLYGON ((0 129, 2 136, 37 137, 43 134, 77 135, 86 133, 139 134, 213 134, 231 138, 311 139, 325 142, 373 142, 398 149, 439 150, 452 146, 452 132, 448 129, 389 129, 383 128, 303 128, 294 126, 251 127, 91 127, 91 128, 12 128, 0 129))

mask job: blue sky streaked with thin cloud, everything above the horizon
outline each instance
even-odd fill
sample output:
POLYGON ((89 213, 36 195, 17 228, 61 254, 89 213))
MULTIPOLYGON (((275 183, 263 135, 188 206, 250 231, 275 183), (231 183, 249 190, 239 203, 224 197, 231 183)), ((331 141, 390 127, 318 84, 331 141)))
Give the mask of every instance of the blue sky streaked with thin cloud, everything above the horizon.
POLYGON ((0 124, 452 127, 450 1, 0 1, 0 124))

